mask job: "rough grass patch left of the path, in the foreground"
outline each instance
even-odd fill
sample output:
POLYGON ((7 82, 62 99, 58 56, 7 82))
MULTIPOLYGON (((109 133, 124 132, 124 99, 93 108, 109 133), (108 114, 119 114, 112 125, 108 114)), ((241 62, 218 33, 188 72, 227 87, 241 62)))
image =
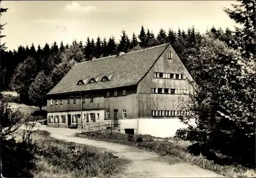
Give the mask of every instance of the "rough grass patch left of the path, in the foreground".
POLYGON ((127 163, 111 152, 53 139, 46 131, 37 131, 32 138, 37 145, 32 160, 35 167, 30 170, 34 177, 107 177, 115 175, 127 163))

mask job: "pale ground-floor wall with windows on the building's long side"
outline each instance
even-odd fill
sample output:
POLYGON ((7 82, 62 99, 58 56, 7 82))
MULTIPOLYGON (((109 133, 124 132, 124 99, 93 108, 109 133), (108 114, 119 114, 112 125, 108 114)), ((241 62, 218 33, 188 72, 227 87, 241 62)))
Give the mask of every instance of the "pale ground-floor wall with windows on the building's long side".
MULTIPOLYGON (((68 114, 71 114, 71 122, 72 122, 72 115, 78 115, 78 114, 81 115, 81 111, 69 111, 69 112, 64 111, 64 112, 51 112, 51 113, 49 112, 49 113, 47 113, 48 125, 49 126, 54 126, 54 127, 59 127, 59 128, 68 128, 68 114), (59 122, 49 122, 49 116, 59 116, 59 118, 61 118, 60 117, 61 115, 65 115, 65 117, 66 117, 66 122, 65 123, 62 123, 61 119, 59 119, 59 122)), ((104 120, 104 118, 105 118, 104 114, 105 114, 104 110, 86 110, 86 111, 82 111, 82 118, 78 117, 74 122, 76 122, 78 124, 78 128, 83 127, 84 129, 87 129, 88 128, 88 123, 93 124, 93 123, 98 123, 98 122, 105 121, 104 120), (93 120, 90 119, 91 118, 90 113, 95 113, 95 122, 93 122, 93 120), (88 122, 87 122, 87 117, 89 117, 88 122)))

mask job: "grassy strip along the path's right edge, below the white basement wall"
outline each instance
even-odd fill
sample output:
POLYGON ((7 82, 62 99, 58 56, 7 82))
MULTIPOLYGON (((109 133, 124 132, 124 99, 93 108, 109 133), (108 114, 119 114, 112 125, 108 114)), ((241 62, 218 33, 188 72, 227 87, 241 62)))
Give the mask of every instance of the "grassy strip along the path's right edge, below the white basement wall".
POLYGON ((106 132, 84 132, 77 134, 77 137, 119 143, 137 147, 140 149, 155 151, 161 155, 172 155, 180 161, 195 164, 201 168, 214 171, 218 174, 227 177, 256 177, 255 169, 246 168, 241 165, 220 165, 212 160, 207 160, 204 156, 194 156, 189 154, 187 147, 191 143, 180 139, 168 139, 159 141, 156 137, 150 135, 135 135, 133 139, 129 140, 127 135, 119 133, 106 133, 106 132))

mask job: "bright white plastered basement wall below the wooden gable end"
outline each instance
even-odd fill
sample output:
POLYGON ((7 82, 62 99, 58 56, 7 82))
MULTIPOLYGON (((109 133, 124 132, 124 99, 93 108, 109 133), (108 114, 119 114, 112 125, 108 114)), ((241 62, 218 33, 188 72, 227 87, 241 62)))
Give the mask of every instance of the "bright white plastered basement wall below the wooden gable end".
MULTIPOLYGON (((174 137, 178 129, 187 128, 187 125, 180 122, 178 118, 140 118, 140 119, 120 119, 120 133, 124 134, 124 129, 135 129, 136 134, 152 135, 154 137, 174 137)), ((191 123, 195 123, 192 121, 191 123)))

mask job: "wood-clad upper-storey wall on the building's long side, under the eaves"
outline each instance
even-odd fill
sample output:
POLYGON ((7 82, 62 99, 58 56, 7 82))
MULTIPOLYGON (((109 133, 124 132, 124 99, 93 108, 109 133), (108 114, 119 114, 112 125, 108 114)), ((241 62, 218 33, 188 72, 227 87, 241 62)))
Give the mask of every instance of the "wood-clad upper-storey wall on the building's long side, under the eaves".
MULTIPOLYGON (((110 110, 110 118, 114 118, 114 110, 118 110, 118 118, 123 117, 122 110, 126 110, 126 118, 137 117, 137 87, 126 87, 126 88, 115 88, 110 90, 101 90, 95 92, 87 93, 77 93, 77 94, 65 94, 65 95, 52 95, 48 96, 47 100, 47 112, 67 112, 84 110, 110 110), (118 95, 114 96, 114 91, 118 92, 118 95), (126 90, 126 95, 123 96, 123 90, 126 90), (110 97, 106 97, 106 92, 110 92, 110 97), (85 102, 81 101, 81 94, 85 96, 85 102), (94 94, 93 102, 90 101, 90 95, 94 94), (68 104, 68 98, 73 96, 76 97, 74 103, 73 99, 70 99, 68 104), (51 98, 53 99, 53 105, 51 105, 51 98), (56 104, 55 99, 58 99, 58 104, 56 104), (62 104, 60 100, 62 99, 62 104), (81 108, 82 107, 82 108, 81 108)), ((104 114, 106 116, 106 114, 104 114)), ((107 119, 106 117, 104 119, 107 119)))

